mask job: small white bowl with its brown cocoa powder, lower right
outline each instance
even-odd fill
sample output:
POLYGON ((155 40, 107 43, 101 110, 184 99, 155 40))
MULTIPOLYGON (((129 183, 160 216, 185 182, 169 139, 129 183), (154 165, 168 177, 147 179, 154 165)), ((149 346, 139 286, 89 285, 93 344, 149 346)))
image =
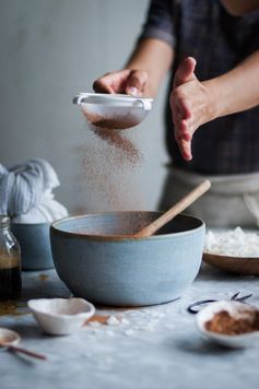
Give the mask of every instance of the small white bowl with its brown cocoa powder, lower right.
POLYGON ((259 309, 255 306, 219 300, 209 304, 197 316, 203 338, 227 347, 259 344, 259 309))

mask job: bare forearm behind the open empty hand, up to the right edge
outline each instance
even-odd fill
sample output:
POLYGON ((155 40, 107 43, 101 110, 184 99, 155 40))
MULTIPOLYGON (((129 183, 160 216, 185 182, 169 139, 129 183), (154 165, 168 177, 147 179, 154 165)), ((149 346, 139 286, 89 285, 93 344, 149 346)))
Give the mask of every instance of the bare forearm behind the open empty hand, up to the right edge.
POLYGON ((239 113, 259 105, 259 51, 229 72, 203 82, 211 91, 212 118, 239 113))

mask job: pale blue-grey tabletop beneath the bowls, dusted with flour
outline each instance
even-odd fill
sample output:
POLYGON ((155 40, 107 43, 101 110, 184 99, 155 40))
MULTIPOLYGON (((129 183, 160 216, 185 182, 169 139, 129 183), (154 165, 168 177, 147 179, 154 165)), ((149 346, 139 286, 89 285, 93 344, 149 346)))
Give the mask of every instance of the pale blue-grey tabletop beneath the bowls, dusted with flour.
MULTIPOLYGON (((23 274, 23 298, 69 296, 54 270, 23 274)), ((186 307, 197 299, 229 298, 251 292, 259 306, 257 278, 227 275, 204 266, 184 296, 169 304, 128 310, 98 309, 123 317, 119 326, 87 326, 69 337, 44 335, 32 315, 1 317, 19 331, 22 344, 48 356, 47 362, 0 352, 1 388, 258 388, 259 345, 227 350, 201 340, 186 307)))

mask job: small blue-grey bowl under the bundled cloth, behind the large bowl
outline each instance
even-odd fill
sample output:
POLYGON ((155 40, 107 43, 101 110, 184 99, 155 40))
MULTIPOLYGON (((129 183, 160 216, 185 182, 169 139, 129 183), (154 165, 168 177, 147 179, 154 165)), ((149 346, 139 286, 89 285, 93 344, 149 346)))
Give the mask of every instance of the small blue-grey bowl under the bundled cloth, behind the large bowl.
POLYGON ((12 223, 11 229, 21 246, 22 269, 44 270, 54 268, 50 223, 12 223))

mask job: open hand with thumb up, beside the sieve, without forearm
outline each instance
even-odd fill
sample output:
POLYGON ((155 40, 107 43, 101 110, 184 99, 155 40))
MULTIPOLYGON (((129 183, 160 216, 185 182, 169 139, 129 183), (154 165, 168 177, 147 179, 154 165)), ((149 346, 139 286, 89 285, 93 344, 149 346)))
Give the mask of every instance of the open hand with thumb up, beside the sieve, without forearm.
POLYGON ((204 122, 212 120, 213 94, 208 82, 200 82, 196 74, 196 60, 186 58, 178 67, 173 91, 170 109, 173 115, 175 139, 183 157, 192 158, 191 139, 195 131, 204 122))

